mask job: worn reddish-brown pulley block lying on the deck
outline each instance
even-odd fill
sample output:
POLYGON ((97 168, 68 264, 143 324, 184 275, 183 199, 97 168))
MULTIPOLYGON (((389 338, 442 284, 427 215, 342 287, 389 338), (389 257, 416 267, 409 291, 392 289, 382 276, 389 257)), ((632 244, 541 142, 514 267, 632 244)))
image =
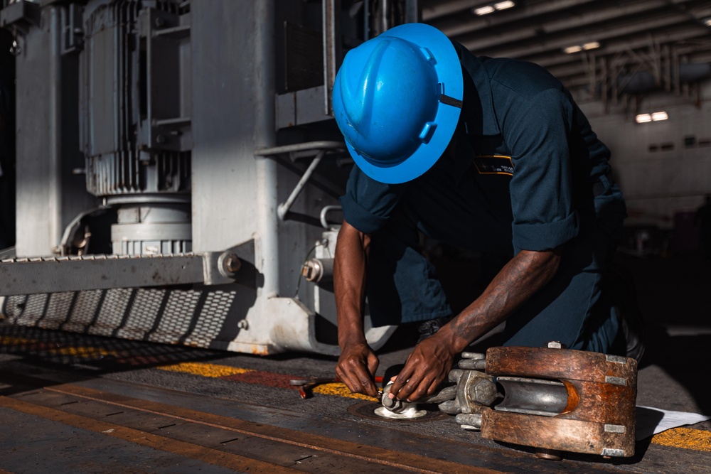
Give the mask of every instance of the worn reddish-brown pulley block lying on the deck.
POLYGON ((547 416, 515 406, 483 411, 482 436, 541 451, 634 456, 636 360, 559 348, 497 347, 486 351, 486 374, 524 384, 526 379, 561 382, 567 399, 564 394, 560 413, 547 416))

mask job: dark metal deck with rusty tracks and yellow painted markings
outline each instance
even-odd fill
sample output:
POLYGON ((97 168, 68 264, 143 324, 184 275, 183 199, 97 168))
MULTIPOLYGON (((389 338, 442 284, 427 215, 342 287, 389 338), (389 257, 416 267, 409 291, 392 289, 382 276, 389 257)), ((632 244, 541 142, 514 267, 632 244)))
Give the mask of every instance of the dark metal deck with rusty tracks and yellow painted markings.
MULTIPOLYGON (((693 318, 710 314, 700 298, 710 277, 690 271, 690 259, 630 264, 652 326, 638 405, 711 414, 702 368, 711 330, 693 318)), ((0 472, 711 472, 711 422, 638 441, 633 458, 540 460, 436 411, 376 419, 374 400, 342 384, 301 399, 289 380, 333 377, 331 357, 235 355, 13 325, 0 325, 0 343, 0 472)), ((409 350, 386 345, 380 375, 409 350)))

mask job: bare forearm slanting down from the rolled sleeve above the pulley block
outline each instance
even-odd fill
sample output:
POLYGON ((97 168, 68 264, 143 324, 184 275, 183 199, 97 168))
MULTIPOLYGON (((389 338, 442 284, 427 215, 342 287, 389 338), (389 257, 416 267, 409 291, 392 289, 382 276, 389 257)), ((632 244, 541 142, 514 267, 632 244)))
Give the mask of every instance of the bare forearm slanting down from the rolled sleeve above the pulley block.
POLYGON ((467 345, 506 321, 528 298, 552 279, 560 264, 557 249, 522 251, 499 271, 486 290, 442 330, 452 348, 461 352, 467 345))

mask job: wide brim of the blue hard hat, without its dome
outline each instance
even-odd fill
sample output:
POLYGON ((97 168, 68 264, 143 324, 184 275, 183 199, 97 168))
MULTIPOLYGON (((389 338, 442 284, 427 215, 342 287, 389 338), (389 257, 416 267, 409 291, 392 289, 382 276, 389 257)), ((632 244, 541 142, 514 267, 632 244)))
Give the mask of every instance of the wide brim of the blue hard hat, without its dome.
MULTIPOLYGON (((444 33, 424 23, 405 23, 385 31, 381 36, 402 38, 427 48, 437 60, 434 70, 437 81, 442 84, 442 94, 461 103, 464 97, 464 80, 459 55, 444 33)), ((427 141, 423 141, 410 156, 392 166, 370 161, 367 156, 360 155, 347 140, 346 146, 358 168, 375 181, 387 184, 412 181, 432 168, 447 149, 451 137, 454 136, 460 113, 461 107, 440 101, 434 119, 435 128, 427 141)))

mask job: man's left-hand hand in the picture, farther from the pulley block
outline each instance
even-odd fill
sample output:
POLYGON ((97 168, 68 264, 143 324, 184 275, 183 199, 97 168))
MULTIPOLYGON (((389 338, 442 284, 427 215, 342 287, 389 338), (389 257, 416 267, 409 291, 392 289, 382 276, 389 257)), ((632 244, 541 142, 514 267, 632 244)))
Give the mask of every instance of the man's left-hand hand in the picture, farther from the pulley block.
POLYGON ((341 350, 336 375, 351 392, 378 398, 378 387, 375 387, 375 370, 378 370, 378 363, 378 356, 368 344, 348 344, 341 350))

